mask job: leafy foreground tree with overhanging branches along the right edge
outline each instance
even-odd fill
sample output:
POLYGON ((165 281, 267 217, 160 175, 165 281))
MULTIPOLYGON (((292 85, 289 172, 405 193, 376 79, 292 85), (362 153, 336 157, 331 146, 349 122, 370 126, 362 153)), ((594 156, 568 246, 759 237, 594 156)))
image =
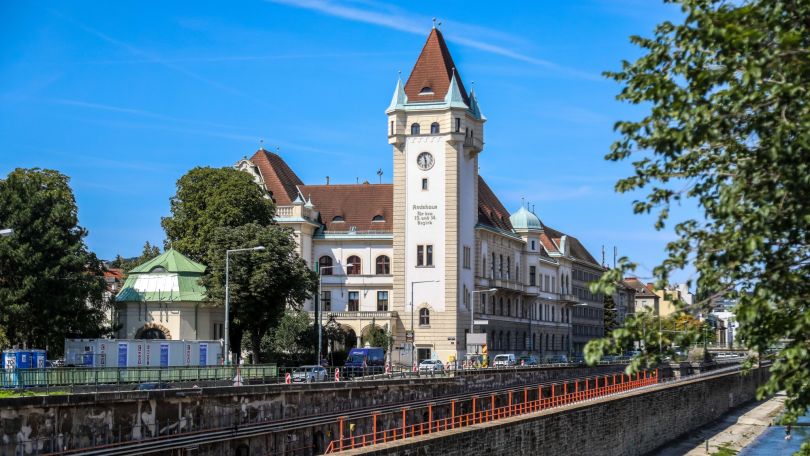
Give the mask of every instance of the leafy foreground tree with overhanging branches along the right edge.
MULTIPOLYGON (((643 55, 607 75, 618 99, 642 105, 616 123, 608 160, 633 158, 616 184, 641 192, 636 213, 696 202, 654 269, 659 286, 692 265, 701 290, 737 297, 739 335, 762 352, 784 341, 761 394, 785 390, 788 417, 810 405, 810 3, 679 0, 683 20, 634 36, 643 55)), ((633 265, 622 259, 592 291, 633 265)), ((699 302, 699 305, 706 304, 699 302)), ((590 361, 609 342, 587 348, 590 361)), ((808 445, 806 451, 810 452, 808 445)))

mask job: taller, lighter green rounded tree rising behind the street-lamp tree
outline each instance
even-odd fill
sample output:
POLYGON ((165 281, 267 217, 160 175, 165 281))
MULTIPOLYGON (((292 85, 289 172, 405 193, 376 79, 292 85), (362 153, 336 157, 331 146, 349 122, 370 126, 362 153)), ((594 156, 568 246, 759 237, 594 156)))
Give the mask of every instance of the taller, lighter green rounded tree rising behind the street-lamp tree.
POLYGON ((248 173, 233 168, 194 168, 177 181, 172 215, 161 221, 165 247, 208 264, 214 232, 248 223, 270 225, 275 206, 248 173))

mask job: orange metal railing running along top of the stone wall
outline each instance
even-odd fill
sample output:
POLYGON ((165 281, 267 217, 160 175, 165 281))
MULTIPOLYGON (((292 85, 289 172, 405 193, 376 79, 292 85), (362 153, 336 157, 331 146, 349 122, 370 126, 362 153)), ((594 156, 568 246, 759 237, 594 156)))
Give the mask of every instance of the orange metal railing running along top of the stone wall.
MULTIPOLYGON (((486 398, 473 396, 470 400, 450 400, 449 402, 430 404, 426 408, 403 408, 401 417, 389 414, 387 420, 381 420, 380 413, 375 412, 366 418, 371 422, 371 432, 360 435, 353 435, 352 426, 349 425, 349 435, 346 436, 348 418, 343 417, 337 423, 338 438, 329 443, 325 453, 337 453, 343 450, 486 423, 656 383, 658 383, 658 369, 639 372, 633 376, 611 374, 565 380, 536 387, 515 388, 507 392, 490 394, 486 398), (469 403, 470 410, 467 413, 457 414, 459 406, 462 405, 459 402, 463 402, 464 405, 469 403), (503 402, 506 403, 499 405, 499 403, 503 402), (445 416, 437 417, 436 412, 439 411, 437 409, 440 409, 445 416), (412 418, 411 424, 408 424, 409 412, 412 418), (421 414, 417 412, 421 412, 421 414), (420 416, 422 419, 418 419, 420 416), (381 426, 383 421, 394 422, 395 425, 391 424, 385 428, 381 426)), ((397 412, 397 415, 399 415, 399 412, 397 412)), ((353 421, 361 420, 353 419, 353 421)))

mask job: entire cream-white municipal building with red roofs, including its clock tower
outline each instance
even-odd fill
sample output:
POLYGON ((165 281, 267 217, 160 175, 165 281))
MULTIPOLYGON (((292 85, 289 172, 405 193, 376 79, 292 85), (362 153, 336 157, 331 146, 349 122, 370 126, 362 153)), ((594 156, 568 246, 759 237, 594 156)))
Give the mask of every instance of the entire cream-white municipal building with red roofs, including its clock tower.
POLYGON ((372 324, 391 331, 404 364, 480 353, 471 329, 490 354, 541 357, 602 336, 602 296, 587 284, 604 269, 527 208, 507 212, 478 175, 486 118, 437 29, 386 115, 393 184, 305 185, 263 149, 236 164, 318 266, 324 321, 359 344, 372 324))

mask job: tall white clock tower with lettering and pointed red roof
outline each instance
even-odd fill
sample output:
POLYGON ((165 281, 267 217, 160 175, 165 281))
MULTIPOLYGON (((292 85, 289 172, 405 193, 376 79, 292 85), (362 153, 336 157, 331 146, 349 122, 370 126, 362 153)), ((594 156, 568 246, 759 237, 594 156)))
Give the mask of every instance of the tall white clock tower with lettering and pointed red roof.
POLYGON ((483 125, 441 32, 431 30, 388 115, 394 158, 393 309, 402 360, 459 359, 475 289, 483 125), (413 331, 411 333, 411 331, 413 331), (411 336, 412 334, 412 336, 411 336))

